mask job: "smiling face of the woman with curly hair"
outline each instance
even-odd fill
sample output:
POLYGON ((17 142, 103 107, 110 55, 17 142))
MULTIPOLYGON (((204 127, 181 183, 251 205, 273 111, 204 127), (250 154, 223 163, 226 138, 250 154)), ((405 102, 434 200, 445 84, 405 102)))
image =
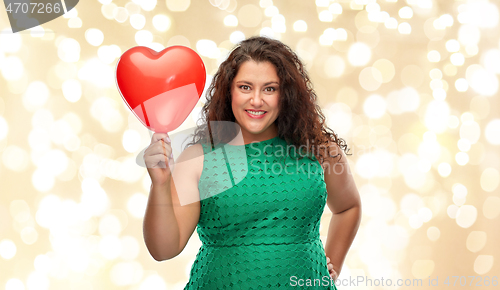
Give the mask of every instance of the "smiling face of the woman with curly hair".
POLYGON ((246 140, 274 138, 278 129, 279 77, 270 62, 245 61, 231 85, 233 114, 246 140), (257 136, 258 135, 258 136, 257 136))

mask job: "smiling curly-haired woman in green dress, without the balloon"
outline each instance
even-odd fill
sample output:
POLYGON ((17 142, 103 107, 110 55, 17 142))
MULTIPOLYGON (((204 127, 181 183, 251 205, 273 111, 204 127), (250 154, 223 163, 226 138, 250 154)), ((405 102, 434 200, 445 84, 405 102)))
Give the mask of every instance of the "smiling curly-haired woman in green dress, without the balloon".
POLYGON ((157 261, 167 260, 198 226, 203 244, 185 289, 336 289, 361 202, 347 146, 316 99, 288 46, 251 37, 220 65, 204 125, 175 168, 169 137, 153 135, 144 238, 157 261), (325 203, 333 215, 323 248, 325 203))

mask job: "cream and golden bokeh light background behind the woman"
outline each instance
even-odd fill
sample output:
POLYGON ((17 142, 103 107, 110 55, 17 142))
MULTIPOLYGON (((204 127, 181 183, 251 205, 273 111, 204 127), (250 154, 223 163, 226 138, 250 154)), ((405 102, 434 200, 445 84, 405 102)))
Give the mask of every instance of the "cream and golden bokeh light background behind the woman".
POLYGON ((2 8, 0 289, 183 289, 201 244, 195 232, 161 263, 144 245, 150 178, 135 157, 150 132, 119 95, 116 62, 137 45, 185 45, 209 83, 251 35, 298 53, 351 147, 364 212, 340 278, 485 285, 500 273, 499 5, 88 0, 16 34, 2 8))

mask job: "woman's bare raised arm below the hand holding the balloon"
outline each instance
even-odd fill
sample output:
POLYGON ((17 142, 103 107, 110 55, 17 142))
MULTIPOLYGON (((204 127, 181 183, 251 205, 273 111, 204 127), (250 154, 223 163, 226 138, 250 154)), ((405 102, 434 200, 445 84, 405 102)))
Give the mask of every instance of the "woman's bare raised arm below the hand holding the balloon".
POLYGON ((198 223, 200 150, 201 145, 184 150, 166 182, 151 184, 143 234, 149 253, 157 261, 180 254, 198 223))

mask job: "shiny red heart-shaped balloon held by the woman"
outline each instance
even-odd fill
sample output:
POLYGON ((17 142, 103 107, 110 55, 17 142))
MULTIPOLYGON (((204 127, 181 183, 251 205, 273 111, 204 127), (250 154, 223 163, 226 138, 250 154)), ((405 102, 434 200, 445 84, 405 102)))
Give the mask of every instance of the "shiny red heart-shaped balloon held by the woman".
POLYGON ((205 87, 200 56, 189 47, 171 46, 161 52, 136 46, 116 65, 116 84, 130 110, 148 129, 167 133, 189 116, 205 87))

